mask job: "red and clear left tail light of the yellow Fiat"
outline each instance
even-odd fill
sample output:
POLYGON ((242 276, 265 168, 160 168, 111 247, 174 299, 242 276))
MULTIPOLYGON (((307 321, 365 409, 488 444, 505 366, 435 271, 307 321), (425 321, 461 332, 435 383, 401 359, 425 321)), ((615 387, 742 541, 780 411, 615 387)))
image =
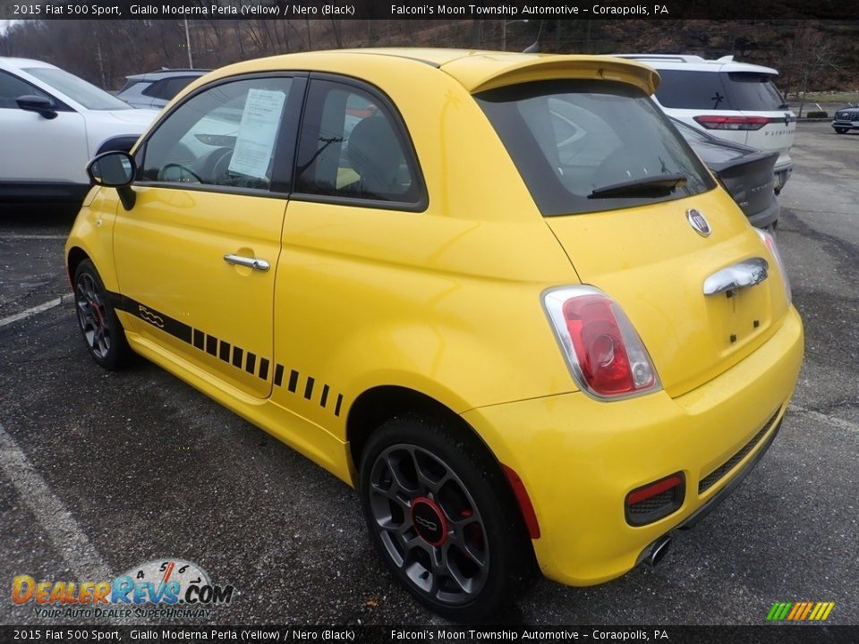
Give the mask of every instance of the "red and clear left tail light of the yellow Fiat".
POLYGON ((583 392, 605 400, 661 388, 641 338, 604 292, 592 286, 566 286, 545 292, 543 306, 583 392))

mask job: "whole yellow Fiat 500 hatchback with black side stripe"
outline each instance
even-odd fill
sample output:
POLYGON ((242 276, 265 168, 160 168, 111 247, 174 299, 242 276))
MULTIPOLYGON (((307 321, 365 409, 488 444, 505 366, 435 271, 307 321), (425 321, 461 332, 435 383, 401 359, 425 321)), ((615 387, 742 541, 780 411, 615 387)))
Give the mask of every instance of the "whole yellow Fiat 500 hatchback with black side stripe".
POLYGON ((755 231, 610 58, 356 50, 194 82, 89 165, 66 246, 138 353, 359 490, 439 614, 658 561, 778 431, 803 330, 755 231))

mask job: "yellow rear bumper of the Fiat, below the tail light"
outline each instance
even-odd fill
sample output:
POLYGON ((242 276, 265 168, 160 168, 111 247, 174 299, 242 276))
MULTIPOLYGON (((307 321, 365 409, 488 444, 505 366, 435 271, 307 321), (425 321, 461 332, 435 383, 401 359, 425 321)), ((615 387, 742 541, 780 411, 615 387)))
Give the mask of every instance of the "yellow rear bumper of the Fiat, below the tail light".
POLYGON ((586 586, 629 571, 654 541, 690 526, 736 486, 775 436, 802 356, 802 322, 790 309, 768 343, 676 399, 665 392, 618 402, 564 394, 464 418, 523 480, 540 523, 532 544, 542 571, 586 586), (679 508, 630 525, 626 496, 678 472, 685 478, 679 508))

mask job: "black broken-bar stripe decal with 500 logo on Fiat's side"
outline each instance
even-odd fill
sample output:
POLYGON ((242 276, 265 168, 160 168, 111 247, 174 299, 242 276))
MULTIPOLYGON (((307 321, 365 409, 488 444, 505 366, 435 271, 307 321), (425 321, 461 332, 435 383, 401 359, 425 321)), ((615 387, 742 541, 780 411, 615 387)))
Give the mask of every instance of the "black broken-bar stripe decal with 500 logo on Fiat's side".
MULTIPOLYGON (((173 335, 175 338, 182 340, 184 343, 191 344, 201 352, 206 352, 208 355, 218 360, 223 360, 227 364, 232 364, 236 369, 244 369, 251 376, 259 377, 261 380, 268 381, 268 374, 272 371, 272 364, 268 358, 259 356, 259 373, 257 373, 257 354, 245 351, 242 347, 228 343, 225 340, 217 338, 215 335, 186 325, 177 319, 152 309, 151 307, 140 304, 132 298, 126 297, 119 293, 108 292, 107 298, 115 309, 120 309, 129 313, 141 320, 149 323, 151 326, 164 331, 166 334, 173 335)), ((286 368, 282 364, 274 365, 274 385, 283 386, 284 374, 286 368)), ((286 389, 291 394, 298 393, 298 382, 302 374, 295 369, 290 369, 289 379, 286 389)), ((307 376, 304 384, 303 397, 310 401, 313 398, 313 390, 316 386, 316 378, 307 376)), ((331 386, 322 385, 322 391, 319 395, 319 406, 327 407, 328 398, 332 395, 331 386)), ((343 408, 343 394, 337 394, 337 400, 334 407, 334 415, 340 416, 340 411, 343 408)))

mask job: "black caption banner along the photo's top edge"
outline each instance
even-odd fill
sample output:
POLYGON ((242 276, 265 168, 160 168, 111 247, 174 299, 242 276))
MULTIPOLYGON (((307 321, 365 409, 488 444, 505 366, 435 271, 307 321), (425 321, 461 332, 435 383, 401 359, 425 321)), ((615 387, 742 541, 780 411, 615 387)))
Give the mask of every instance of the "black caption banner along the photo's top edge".
POLYGON ((666 20, 859 18, 835 0, 0 0, 0 20, 666 20))

